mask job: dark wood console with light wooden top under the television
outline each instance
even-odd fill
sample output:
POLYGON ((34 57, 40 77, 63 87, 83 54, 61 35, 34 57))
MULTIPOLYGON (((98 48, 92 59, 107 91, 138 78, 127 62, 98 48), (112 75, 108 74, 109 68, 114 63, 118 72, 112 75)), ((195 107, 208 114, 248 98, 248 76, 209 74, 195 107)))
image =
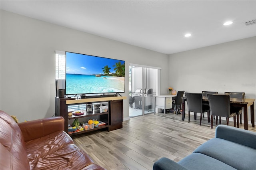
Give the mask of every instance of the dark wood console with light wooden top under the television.
POLYGON ((65 119, 64 129, 65 132, 68 133, 68 120, 70 119, 81 119, 92 116, 99 116, 100 121, 106 123, 106 125, 93 128, 90 130, 82 130, 76 133, 69 134, 70 136, 74 136, 76 134, 91 132, 94 130, 99 130, 102 128, 106 128, 108 131, 115 130, 118 128, 122 128, 123 122, 123 99, 126 97, 100 97, 100 98, 89 98, 89 99, 78 99, 75 98, 58 98, 55 97, 55 115, 62 116, 65 119), (68 105, 79 105, 86 103, 108 103, 108 111, 100 113, 99 111, 93 111, 91 113, 86 113, 84 111, 84 115, 79 116, 68 116, 68 105))

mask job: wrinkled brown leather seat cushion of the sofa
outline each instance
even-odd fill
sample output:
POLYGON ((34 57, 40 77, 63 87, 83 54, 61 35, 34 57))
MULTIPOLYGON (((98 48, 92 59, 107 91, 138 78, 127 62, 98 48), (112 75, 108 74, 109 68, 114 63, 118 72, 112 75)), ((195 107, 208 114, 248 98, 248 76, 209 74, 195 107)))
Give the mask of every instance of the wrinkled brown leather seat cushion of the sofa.
POLYGON ((25 142, 30 169, 82 169, 93 164, 64 131, 25 142))

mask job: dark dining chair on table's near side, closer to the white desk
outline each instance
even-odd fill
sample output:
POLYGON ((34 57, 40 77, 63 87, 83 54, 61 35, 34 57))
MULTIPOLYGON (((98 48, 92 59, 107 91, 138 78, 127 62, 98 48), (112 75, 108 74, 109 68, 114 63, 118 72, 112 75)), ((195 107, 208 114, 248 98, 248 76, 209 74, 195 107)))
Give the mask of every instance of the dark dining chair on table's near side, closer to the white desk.
MULTIPOLYGON (((188 103, 188 123, 190 122, 190 112, 200 113, 200 124, 202 123, 202 114, 209 111, 209 106, 203 105, 203 99, 201 93, 185 93, 187 103, 188 103)), ((208 117, 208 115, 207 115, 208 117)))

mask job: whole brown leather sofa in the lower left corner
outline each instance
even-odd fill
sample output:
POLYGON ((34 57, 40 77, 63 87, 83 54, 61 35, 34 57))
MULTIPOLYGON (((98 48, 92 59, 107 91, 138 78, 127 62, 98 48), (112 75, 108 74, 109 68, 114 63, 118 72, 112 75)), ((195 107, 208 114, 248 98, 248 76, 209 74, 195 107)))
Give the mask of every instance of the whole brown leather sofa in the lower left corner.
POLYGON ((0 111, 1 170, 104 170, 63 130, 63 117, 17 124, 0 111))

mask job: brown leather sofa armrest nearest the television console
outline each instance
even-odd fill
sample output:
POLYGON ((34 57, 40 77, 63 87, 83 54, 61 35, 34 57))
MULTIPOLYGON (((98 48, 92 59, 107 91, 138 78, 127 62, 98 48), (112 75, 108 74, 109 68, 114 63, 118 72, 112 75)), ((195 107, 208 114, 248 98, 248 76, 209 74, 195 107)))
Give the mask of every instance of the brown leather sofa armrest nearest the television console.
POLYGON ((60 116, 49 117, 18 123, 18 125, 26 142, 28 140, 40 138, 59 130, 64 131, 64 118, 60 116))

